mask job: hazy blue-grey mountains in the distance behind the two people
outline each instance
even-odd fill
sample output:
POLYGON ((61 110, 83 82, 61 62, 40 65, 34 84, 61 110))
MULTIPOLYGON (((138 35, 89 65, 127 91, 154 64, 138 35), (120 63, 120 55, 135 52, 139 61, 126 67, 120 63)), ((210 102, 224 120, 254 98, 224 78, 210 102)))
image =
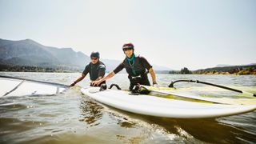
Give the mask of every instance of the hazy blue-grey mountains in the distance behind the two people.
MULTIPOLYGON (((10 41, 0 38, 0 65, 2 66, 40 66, 66 67, 83 70, 90 57, 72 48, 43 46, 31 39, 10 41)), ((108 71, 114 70, 121 61, 102 59, 108 71)), ((154 70, 170 70, 163 66, 154 66, 154 70)))

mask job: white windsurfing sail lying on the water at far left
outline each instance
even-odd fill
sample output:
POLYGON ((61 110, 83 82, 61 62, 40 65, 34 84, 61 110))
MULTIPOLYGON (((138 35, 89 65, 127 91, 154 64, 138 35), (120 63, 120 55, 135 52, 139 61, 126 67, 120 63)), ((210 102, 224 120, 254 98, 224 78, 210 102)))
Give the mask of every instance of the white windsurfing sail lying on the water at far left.
POLYGON ((65 86, 50 83, 32 82, 18 78, 0 77, 0 98, 25 95, 54 95, 66 90, 65 86))

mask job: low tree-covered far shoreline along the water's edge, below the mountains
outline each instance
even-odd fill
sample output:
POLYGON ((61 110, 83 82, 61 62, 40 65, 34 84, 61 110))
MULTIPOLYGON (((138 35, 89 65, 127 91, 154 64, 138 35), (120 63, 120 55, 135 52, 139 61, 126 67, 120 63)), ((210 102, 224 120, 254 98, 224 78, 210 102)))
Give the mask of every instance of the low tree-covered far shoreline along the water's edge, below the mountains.
MULTIPOLYGON (((0 71, 14 72, 54 72, 54 73, 71 73, 81 72, 83 69, 70 66, 16 66, 0 65, 0 71)), ((184 67, 182 70, 156 70, 158 74, 256 74, 256 65, 251 66, 226 66, 214 67, 202 70, 189 70, 184 67)))

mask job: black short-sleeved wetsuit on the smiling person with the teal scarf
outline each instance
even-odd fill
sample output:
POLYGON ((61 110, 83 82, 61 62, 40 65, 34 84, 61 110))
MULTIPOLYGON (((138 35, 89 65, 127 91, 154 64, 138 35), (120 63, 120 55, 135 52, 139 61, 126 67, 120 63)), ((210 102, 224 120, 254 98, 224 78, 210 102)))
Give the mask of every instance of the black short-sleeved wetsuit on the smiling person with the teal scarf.
POLYGON ((129 90, 132 90, 137 84, 150 86, 146 70, 150 70, 151 67, 152 66, 147 62, 146 58, 143 58, 142 56, 135 56, 134 63, 129 62, 128 59, 125 58, 114 70, 114 74, 117 74, 123 68, 126 68, 126 72, 129 74, 128 78, 130 79, 129 90))

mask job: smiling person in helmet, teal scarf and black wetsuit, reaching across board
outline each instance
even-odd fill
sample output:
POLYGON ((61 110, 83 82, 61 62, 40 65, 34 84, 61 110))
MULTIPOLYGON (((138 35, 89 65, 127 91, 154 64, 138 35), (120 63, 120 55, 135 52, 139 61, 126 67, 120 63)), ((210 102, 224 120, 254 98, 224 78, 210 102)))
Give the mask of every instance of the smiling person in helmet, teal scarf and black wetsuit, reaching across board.
POLYGON ((119 71, 125 68, 126 72, 129 74, 128 78, 130 79, 129 90, 133 90, 134 86, 138 84, 150 86, 150 81, 147 77, 148 72, 151 75, 153 86, 158 87, 152 66, 149 62, 147 62, 146 58, 139 55, 135 56, 134 45, 132 43, 124 44, 122 46, 122 50, 126 54, 126 58, 122 61, 122 63, 120 63, 119 66, 110 72, 110 74, 108 74, 106 77, 92 82, 93 85, 98 85, 106 79, 112 78, 114 74, 117 74, 119 71))

